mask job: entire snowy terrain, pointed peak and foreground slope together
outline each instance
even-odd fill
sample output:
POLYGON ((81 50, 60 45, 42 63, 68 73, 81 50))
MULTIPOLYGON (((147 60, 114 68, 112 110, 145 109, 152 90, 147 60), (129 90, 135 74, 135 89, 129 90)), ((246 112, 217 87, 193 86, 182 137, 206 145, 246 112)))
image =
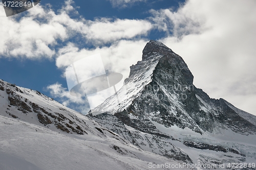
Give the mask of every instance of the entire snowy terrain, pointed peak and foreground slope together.
POLYGON ((85 116, 0 80, 0 170, 256 169, 256 116, 196 88, 164 44, 117 94, 85 116))

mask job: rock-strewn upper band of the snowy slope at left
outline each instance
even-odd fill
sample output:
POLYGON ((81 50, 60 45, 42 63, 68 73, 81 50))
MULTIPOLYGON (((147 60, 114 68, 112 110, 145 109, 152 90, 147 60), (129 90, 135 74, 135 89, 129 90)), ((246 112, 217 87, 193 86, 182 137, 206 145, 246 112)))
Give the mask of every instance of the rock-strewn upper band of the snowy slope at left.
POLYGON ((98 133, 95 127, 102 128, 88 117, 63 106, 39 91, 1 80, 0 99, 0 115, 59 133, 95 135, 98 133))

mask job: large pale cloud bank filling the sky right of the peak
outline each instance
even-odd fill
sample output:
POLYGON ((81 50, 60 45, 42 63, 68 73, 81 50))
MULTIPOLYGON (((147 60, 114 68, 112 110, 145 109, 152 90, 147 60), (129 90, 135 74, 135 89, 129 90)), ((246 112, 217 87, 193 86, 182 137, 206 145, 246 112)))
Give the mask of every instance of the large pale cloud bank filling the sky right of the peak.
POLYGON ((152 11, 161 29, 174 33, 161 41, 183 57, 194 84, 211 98, 224 98, 252 114, 256 114, 255 8, 253 0, 191 0, 177 12, 152 11), (173 24, 163 22, 167 20, 173 24))

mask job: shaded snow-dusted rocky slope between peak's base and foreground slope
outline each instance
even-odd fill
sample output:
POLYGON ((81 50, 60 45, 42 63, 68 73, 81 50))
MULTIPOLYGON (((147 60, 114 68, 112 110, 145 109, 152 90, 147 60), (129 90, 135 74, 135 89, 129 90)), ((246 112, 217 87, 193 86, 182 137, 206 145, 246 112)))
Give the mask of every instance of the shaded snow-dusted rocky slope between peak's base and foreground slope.
POLYGON ((123 139, 130 141, 130 143, 136 145, 142 150, 176 161, 187 163, 193 162, 184 151, 172 144, 173 140, 177 140, 172 136, 161 134, 160 131, 147 131, 148 133, 144 133, 130 128, 123 123, 123 121, 125 121, 125 117, 122 119, 108 113, 95 115, 93 116, 93 119, 101 126, 115 132, 123 139))

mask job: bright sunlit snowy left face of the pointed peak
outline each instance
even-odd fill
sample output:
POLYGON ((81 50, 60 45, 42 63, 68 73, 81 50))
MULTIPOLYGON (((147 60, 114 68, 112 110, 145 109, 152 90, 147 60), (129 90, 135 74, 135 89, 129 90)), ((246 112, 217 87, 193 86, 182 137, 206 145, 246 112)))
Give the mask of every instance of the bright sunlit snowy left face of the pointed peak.
POLYGON ((121 100, 118 102, 116 96, 112 95, 91 112, 94 115, 104 112, 114 114, 126 109, 140 95, 145 86, 152 81, 153 71, 161 57, 162 55, 157 55, 155 58, 139 61, 136 66, 131 66, 133 74, 130 74, 129 78, 125 79, 124 86, 117 91, 118 98, 121 100))

